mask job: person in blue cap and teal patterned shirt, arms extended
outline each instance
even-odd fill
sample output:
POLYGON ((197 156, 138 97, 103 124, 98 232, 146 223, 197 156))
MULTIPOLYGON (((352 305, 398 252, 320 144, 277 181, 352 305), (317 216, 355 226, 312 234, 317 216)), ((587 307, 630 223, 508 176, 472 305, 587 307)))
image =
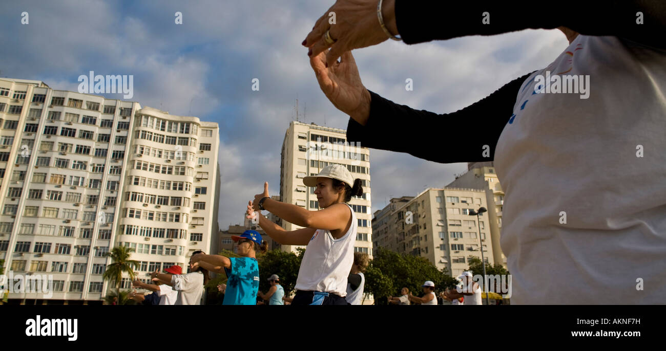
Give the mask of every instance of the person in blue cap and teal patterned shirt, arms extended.
POLYGON ((216 273, 226 273, 226 291, 222 304, 256 304, 259 291, 259 265, 256 252, 265 253, 268 243, 262 241, 258 231, 246 230, 241 235, 232 235, 231 239, 238 245, 240 257, 224 257, 222 255, 192 256, 192 263, 216 273))

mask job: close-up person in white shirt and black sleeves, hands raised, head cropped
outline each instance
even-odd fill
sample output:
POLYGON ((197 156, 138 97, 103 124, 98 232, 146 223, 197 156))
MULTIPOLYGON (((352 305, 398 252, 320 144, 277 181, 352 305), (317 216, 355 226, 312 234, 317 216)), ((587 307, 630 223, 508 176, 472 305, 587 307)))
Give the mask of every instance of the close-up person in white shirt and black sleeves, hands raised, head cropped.
MULTIPOLYGON (((666 39, 655 33, 666 32, 666 7, 527 4, 338 0, 302 45, 322 92, 350 116, 349 142, 441 163, 494 162, 505 189, 500 243, 512 303, 662 303, 666 153, 657 150, 666 150, 666 39), (345 20, 330 23, 330 12, 345 20), (366 89, 351 53, 389 38, 413 45, 555 28, 569 45, 551 64, 446 114, 366 89), (440 138, 470 126, 479 128, 440 138), (555 263, 560 274, 544 275, 555 263), (645 290, 626 277, 643 277, 645 290)), ((495 79, 470 77, 482 86, 495 79)))

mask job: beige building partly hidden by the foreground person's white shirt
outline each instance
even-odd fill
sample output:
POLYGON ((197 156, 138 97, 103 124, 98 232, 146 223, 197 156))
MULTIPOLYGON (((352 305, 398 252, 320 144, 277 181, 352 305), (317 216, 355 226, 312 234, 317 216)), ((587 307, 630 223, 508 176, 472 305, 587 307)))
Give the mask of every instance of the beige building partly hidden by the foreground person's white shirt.
POLYGON ((488 203, 488 217, 490 221, 490 237, 492 239, 494 264, 503 265, 506 268, 506 257, 501 251, 501 217, 504 205, 504 191, 500 185, 500 179, 495 173, 492 162, 473 162, 468 164, 468 172, 456 176, 456 180, 449 185, 451 187, 471 187, 482 189, 486 192, 486 203, 488 203))

